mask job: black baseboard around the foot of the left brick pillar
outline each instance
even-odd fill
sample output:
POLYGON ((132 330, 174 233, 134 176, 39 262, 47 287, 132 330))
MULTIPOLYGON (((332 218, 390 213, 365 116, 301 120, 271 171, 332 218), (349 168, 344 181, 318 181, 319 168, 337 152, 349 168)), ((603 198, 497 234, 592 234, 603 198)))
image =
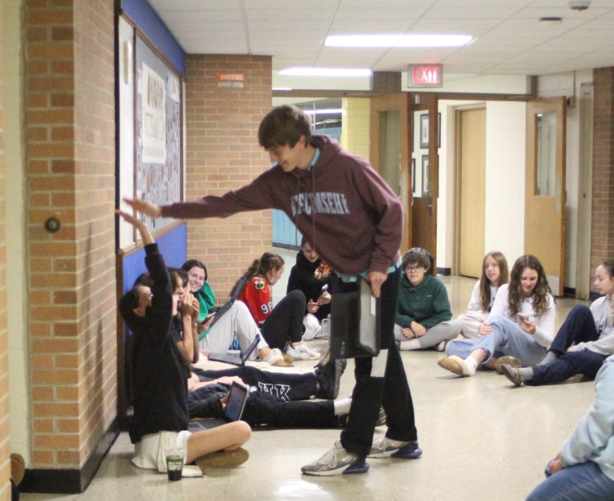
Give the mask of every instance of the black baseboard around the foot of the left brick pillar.
POLYGON ((20 492, 48 492, 50 494, 78 494, 84 492, 93 480, 104 457, 119 437, 117 417, 98 440, 95 451, 80 469, 26 468, 20 492))

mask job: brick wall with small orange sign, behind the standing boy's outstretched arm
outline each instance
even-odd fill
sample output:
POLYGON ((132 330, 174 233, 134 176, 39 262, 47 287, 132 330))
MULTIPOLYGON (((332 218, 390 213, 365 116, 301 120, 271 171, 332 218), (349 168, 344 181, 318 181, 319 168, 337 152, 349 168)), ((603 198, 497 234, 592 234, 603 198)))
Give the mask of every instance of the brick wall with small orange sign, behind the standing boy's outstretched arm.
MULTIPOLYGON (((257 131, 271 109, 269 56, 189 55, 185 78, 186 198, 223 195, 270 166, 257 131), (217 87, 241 73, 244 88, 217 87)), ((218 301, 254 258, 271 250, 271 211, 188 222, 188 258, 203 260, 218 301)))

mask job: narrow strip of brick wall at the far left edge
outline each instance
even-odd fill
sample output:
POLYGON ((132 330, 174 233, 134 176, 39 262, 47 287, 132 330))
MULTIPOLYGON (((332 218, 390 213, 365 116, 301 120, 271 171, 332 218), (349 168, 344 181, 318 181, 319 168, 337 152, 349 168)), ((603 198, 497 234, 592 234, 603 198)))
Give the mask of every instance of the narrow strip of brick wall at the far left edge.
MULTIPOLYGON (((2 12, 2 0, 0 0, 2 12)), ((0 23, 0 61, 2 61, 0 23)), ((10 500, 9 441, 9 341, 6 328, 6 230, 4 217, 4 112, 2 110, 2 64, 0 64, 0 500, 10 500)))

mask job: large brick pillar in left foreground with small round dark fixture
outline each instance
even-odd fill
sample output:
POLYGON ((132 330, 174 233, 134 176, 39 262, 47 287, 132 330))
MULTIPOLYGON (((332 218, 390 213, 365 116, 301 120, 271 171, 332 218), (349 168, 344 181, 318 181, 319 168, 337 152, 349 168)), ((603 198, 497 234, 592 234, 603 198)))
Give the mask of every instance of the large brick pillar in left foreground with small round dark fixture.
POLYGON ((25 6, 28 467, 79 468, 115 417, 114 2, 25 6))

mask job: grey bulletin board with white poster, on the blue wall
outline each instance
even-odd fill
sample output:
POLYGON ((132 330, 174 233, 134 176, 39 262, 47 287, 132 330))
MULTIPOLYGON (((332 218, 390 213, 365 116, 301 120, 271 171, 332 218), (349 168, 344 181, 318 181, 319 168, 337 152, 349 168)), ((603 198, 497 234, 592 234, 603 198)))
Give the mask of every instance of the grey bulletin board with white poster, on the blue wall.
MULTIPOLYGON (((134 195, 159 205, 182 200, 182 89, 176 72, 136 36, 134 195)), ((158 231, 174 219, 146 217, 158 231)))

